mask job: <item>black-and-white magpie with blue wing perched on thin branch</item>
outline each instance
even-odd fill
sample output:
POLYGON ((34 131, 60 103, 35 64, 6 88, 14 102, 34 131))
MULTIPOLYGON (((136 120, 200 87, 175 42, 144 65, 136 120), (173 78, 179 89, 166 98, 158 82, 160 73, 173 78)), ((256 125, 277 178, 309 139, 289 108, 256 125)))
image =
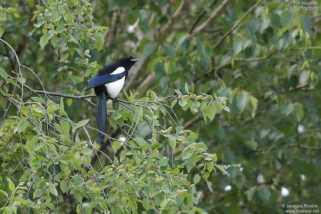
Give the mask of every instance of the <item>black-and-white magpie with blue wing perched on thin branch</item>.
MULTIPOLYGON (((98 129, 106 134, 107 127, 107 100, 117 100, 116 96, 121 91, 128 76, 129 69, 137 62, 132 56, 118 59, 116 62, 102 68, 97 75, 88 81, 84 91, 94 88, 97 96, 96 123, 98 129)), ((105 135, 99 134, 99 142, 104 142, 105 135)))

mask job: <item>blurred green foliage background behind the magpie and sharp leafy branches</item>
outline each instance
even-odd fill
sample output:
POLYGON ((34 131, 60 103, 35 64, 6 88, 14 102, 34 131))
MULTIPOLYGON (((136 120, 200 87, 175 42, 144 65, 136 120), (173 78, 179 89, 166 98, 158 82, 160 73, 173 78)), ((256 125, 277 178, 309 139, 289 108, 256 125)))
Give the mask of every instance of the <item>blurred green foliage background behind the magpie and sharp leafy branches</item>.
MULTIPOLYGON (((35 5, 42 3, 2 0, 0 36, 47 91, 83 94, 89 77, 84 75, 86 67, 74 63, 76 54, 59 60, 61 53, 50 42, 44 49, 39 45, 43 32, 31 19, 35 5), (9 7, 14 12, 4 12, 9 7)), ((102 49, 91 50, 89 63, 106 66, 126 55, 139 59, 123 93, 131 91, 139 98, 152 90, 169 96, 174 89, 184 90, 187 82, 195 94, 227 98, 230 113, 217 112, 213 121, 175 107, 184 128, 199 133, 199 141, 226 169, 208 178, 213 193, 204 180, 196 184, 195 206, 208 213, 285 213, 283 203, 321 205, 319 11, 299 11, 294 1, 91 0, 90 4, 95 24, 107 28, 102 49)), ((83 47, 89 48, 86 43, 83 47)), ((0 44, 0 64, 17 70, 4 44, 0 44)), ((24 77, 30 87, 41 89, 32 74, 26 72, 24 77)), ((0 106, 3 115, 8 106, 3 97, 0 106)), ((88 103, 70 99, 65 110, 70 118, 91 119, 95 126, 96 109, 88 103)), ((10 107, 7 114, 15 112, 10 107)), ((3 122, 0 119, 0 125, 3 122)), ((108 127, 109 133, 112 129, 108 127)), ((0 181, 10 175, 10 165, 16 160, 0 154, 0 181)))

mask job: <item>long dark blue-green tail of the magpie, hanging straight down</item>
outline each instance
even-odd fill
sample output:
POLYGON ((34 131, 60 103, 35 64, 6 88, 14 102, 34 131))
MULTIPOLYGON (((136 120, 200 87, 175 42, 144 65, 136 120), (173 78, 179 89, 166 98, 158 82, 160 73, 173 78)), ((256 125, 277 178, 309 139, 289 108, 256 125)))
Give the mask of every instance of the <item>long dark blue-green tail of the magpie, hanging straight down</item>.
MULTIPOLYGON (((98 129, 106 134, 107 121, 107 101, 104 93, 97 95, 97 117, 96 123, 98 129)), ((104 142, 105 135, 99 133, 99 142, 104 142)))

